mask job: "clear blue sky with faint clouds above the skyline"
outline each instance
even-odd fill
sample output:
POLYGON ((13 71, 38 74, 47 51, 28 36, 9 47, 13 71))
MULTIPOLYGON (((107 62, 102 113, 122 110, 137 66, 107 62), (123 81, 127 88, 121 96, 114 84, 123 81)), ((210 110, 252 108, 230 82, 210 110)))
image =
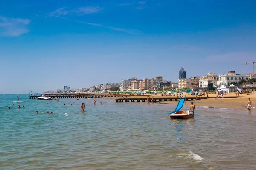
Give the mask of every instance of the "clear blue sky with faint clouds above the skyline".
POLYGON ((0 94, 137 77, 252 72, 254 0, 12 0, 0 6, 0 94))

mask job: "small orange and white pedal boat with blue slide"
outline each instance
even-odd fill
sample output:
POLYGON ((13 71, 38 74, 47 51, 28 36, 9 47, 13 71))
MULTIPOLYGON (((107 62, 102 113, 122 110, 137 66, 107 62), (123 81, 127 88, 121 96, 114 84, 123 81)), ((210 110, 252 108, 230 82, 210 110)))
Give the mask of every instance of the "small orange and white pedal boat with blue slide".
POLYGON ((187 109, 185 111, 181 111, 184 102, 186 105, 186 96, 184 98, 180 98, 175 110, 168 114, 171 119, 189 119, 194 117, 194 111, 190 111, 187 109))

